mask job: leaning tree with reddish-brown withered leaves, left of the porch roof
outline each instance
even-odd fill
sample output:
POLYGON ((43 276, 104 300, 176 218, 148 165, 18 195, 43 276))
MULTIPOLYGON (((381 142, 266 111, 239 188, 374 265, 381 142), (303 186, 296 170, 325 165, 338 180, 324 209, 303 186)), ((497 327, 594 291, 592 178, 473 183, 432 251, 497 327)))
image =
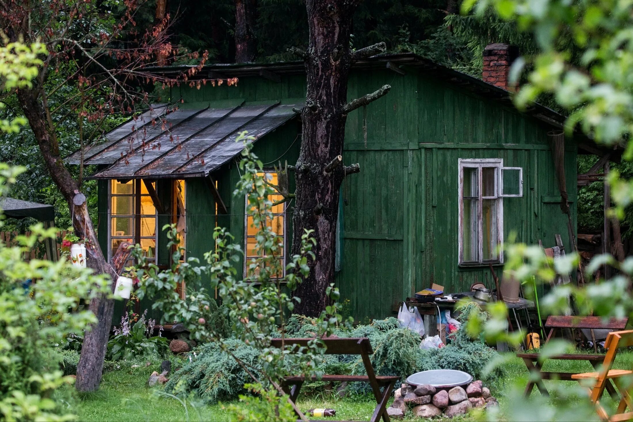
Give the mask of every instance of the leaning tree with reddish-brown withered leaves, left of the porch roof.
MULTIPOLYGON (((125 242, 120 245, 110 262, 104 257, 82 185, 68 171, 60 154, 59 127, 68 119, 98 122, 108 113, 133 113, 137 104, 149 100, 144 88, 152 89, 156 83, 171 84, 173 80, 143 70, 155 64, 152 58, 156 58, 158 51, 166 49, 171 53, 165 40, 166 25, 135 34, 132 17, 137 8, 135 1, 126 1, 122 9, 115 10, 120 12, 118 18, 112 10, 101 7, 105 6, 89 0, 50 0, 46 6, 37 0, 4 1, 0 2, 0 30, 11 42, 39 41, 46 46, 43 65, 39 66, 32 84, 8 95, 16 96, 51 178, 68 203, 75 234, 85 240, 87 264, 96 273, 116 280, 130 253, 129 245, 125 242), (127 42, 122 44, 119 40, 126 33, 127 42), (50 84, 50 75, 60 71, 64 75, 62 80, 56 75, 54 80, 58 83, 50 84), (52 105, 51 99, 68 85, 75 89, 73 94, 60 106, 52 105)), ((197 70, 192 68, 190 74, 197 70)), ((84 135, 80 130, 82 145, 90 140, 89 136, 84 139, 84 135)), ((112 292, 113 289, 114 283, 112 292)), ((104 294, 89 304, 97 323, 84 336, 75 383, 78 390, 95 390, 101 382, 113 308, 113 299, 104 294)))

